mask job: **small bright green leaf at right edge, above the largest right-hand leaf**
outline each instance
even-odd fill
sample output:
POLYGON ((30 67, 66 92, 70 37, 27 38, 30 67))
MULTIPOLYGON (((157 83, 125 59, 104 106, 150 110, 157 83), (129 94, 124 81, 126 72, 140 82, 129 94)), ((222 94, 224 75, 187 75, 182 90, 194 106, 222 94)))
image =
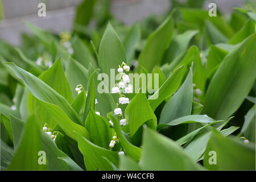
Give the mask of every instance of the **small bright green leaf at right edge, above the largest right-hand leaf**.
POLYGON ((255 23, 252 19, 247 20, 246 24, 230 40, 229 44, 237 44, 245 40, 255 32, 255 23))

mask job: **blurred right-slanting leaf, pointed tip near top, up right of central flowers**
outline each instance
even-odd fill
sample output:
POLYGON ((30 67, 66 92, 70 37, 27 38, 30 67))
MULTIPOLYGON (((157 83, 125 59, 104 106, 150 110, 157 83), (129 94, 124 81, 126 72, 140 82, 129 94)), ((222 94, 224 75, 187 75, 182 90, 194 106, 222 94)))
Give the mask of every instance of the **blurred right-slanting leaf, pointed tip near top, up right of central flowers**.
POLYGON ((165 49, 170 45, 174 33, 172 14, 148 37, 139 55, 139 64, 148 72, 161 63, 165 49))

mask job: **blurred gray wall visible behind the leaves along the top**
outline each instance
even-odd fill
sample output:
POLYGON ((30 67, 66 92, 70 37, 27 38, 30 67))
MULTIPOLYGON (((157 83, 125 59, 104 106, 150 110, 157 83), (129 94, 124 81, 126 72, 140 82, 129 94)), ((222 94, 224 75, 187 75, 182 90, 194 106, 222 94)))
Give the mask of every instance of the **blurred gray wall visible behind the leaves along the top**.
MULTIPOLYGON (((180 0, 184 1, 184 0, 180 0)), ((217 8, 230 13, 233 7, 242 6, 245 0, 212 0, 217 8)), ((0 21, 0 39, 14 45, 20 44, 20 33, 28 32, 24 20, 53 32, 72 28, 76 6, 81 0, 2 0, 5 19, 0 21), (38 3, 45 2, 47 16, 38 16, 38 3)), ((112 14, 126 24, 133 24, 151 14, 161 14, 170 7, 170 0, 113 0, 112 14)))

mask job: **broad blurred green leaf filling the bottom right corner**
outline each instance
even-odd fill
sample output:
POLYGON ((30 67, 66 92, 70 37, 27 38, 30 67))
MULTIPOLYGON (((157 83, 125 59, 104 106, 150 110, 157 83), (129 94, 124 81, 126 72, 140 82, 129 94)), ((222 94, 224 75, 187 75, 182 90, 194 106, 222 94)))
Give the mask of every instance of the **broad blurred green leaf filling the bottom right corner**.
POLYGON ((213 130, 204 155, 204 166, 212 170, 255 170, 255 144, 243 144, 235 138, 225 138, 213 130), (210 151, 216 152, 216 164, 210 151))

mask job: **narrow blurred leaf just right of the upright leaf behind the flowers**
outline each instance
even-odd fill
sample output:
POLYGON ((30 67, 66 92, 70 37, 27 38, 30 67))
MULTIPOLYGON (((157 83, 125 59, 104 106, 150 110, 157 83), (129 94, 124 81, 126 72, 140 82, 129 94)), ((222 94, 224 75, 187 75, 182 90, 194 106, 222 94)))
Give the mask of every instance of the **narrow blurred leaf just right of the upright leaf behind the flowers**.
POLYGON ((135 48, 139 40, 141 40, 141 28, 138 23, 134 23, 123 40, 123 47, 125 47, 128 65, 131 65, 131 61, 133 61, 135 48))

